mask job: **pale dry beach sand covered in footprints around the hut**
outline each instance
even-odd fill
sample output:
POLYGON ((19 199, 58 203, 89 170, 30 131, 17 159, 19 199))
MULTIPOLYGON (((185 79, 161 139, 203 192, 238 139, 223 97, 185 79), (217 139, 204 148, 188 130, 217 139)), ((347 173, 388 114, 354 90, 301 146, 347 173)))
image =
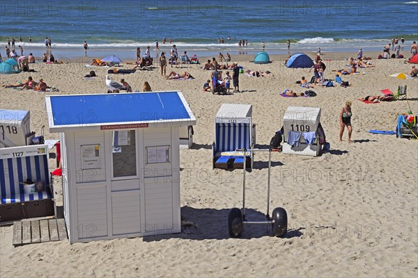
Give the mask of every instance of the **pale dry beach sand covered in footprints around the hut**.
MULTIPOLYGON (((348 57, 349 54, 346 55, 348 57)), ((328 55, 326 78, 342 69, 343 54, 328 55)), ((240 56, 240 58, 246 58, 240 56)), ((249 60, 249 59, 248 59, 249 60)), ((125 238, 70 245, 68 241, 13 247, 13 227, 1 227, 0 277, 417 277, 418 267, 418 146, 417 140, 373 135, 369 129, 394 130, 396 115, 418 113, 418 79, 389 77, 410 72, 403 59, 373 60, 375 68, 343 76, 349 88, 315 88, 317 97, 283 98, 285 89, 304 91, 295 84, 307 69, 288 69, 280 59, 268 65, 242 62, 245 69, 270 70, 272 77, 240 76, 242 93, 202 92, 210 72, 184 66, 196 78, 169 81, 159 68, 124 78, 134 90, 148 81, 154 91, 181 90, 197 119, 193 149, 180 151, 182 216, 196 224, 181 234, 125 238), (358 97, 379 95, 408 85, 408 101, 364 104, 358 97), (353 140, 338 142, 338 115, 353 101, 353 140), (264 148, 280 129, 288 106, 322 108, 321 122, 331 150, 319 157, 273 154, 270 209, 288 212, 285 238, 274 238, 267 227, 245 227, 241 239, 229 238, 228 210, 241 206, 242 172, 212 170, 211 144, 215 113, 222 103, 253 105, 257 144, 264 148)), ((131 68, 132 66, 123 66, 131 68)), ((34 65, 36 73, 2 75, 1 83, 43 78, 59 88, 55 94, 107 92, 108 67, 34 65), (98 77, 82 76, 95 70, 98 77)), ((169 72, 171 67, 167 67, 169 72)), ((177 70, 177 69, 175 69, 177 70)), ((167 73, 168 73, 167 72, 167 73)), ((48 93, 47 93, 48 94, 48 93)), ((1 88, 0 106, 31 111, 31 129, 47 126, 45 95, 32 90, 1 88)), ((48 139, 58 134, 45 130, 48 139)), ((247 174, 247 211, 263 219, 267 185, 267 155, 256 155, 247 174)), ((50 165, 54 165, 51 160, 50 165)), ((51 166, 52 167, 52 166, 51 166)))

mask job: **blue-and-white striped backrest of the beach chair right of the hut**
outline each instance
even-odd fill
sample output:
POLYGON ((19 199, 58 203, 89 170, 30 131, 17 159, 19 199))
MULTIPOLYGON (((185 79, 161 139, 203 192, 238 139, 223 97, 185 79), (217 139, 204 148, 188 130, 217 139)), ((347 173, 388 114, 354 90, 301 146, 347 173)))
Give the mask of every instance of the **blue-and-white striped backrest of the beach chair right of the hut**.
POLYGON ((215 129, 217 152, 231 152, 250 147, 249 124, 217 123, 215 129))

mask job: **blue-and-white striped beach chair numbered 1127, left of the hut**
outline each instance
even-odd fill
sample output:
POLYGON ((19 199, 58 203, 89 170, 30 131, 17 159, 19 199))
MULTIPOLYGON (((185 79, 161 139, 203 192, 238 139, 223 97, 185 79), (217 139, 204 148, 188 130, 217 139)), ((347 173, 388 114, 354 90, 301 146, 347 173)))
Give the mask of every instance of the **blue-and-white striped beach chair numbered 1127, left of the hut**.
POLYGON ((0 149, 0 221, 54 215, 47 145, 0 149), (44 181, 45 190, 25 193, 24 182, 44 181))

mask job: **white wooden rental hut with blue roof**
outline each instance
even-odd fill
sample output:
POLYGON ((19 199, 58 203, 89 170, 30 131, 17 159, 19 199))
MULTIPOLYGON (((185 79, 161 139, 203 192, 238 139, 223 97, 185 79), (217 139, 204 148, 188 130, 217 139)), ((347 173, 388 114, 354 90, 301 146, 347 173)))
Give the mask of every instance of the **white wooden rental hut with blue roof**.
POLYGON ((170 234, 180 227, 181 92, 47 96, 60 133, 70 243, 170 234))

